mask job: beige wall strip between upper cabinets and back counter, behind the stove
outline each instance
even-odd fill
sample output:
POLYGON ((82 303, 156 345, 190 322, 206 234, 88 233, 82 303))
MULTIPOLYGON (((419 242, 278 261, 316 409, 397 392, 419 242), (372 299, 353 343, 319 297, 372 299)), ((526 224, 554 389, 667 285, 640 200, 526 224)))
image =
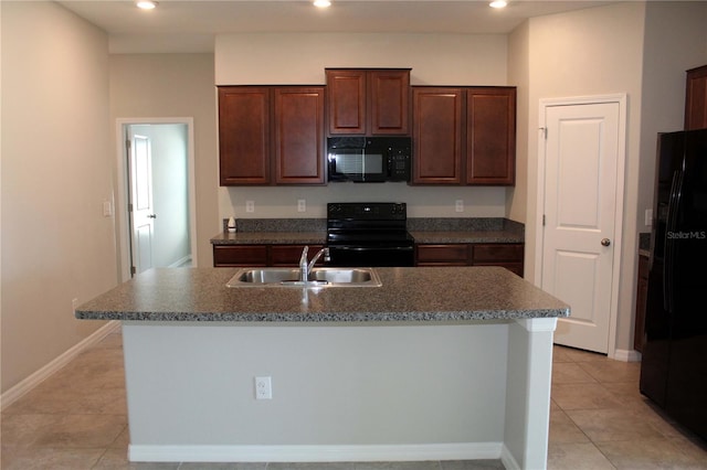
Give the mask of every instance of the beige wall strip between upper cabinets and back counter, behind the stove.
POLYGON ((410 186, 405 183, 329 183, 326 186, 219 189, 220 218, 326 218, 329 202, 404 202, 409 217, 505 217, 505 188, 410 186), (297 203, 305 201, 306 211, 297 203), (247 202, 254 212, 246 212, 247 202), (456 212, 462 201, 463 212, 456 212))

